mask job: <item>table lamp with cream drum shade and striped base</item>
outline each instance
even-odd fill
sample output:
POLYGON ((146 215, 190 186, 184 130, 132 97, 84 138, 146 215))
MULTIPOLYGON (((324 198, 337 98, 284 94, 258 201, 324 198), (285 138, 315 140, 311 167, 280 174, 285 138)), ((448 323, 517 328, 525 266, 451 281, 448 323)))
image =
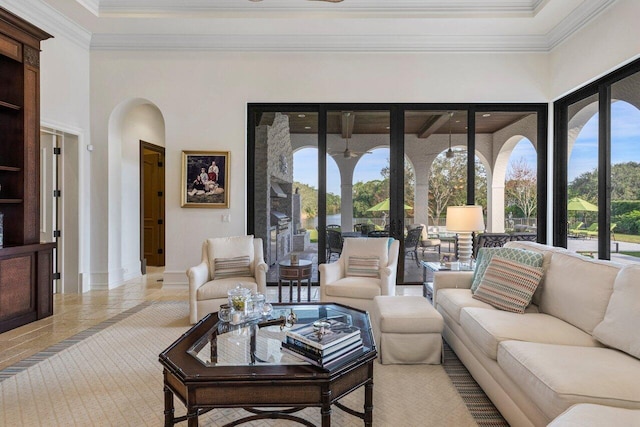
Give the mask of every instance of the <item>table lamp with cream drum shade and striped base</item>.
POLYGON ((458 233, 458 260, 462 265, 471 265, 473 252, 471 233, 483 230, 482 206, 447 207, 447 231, 458 233))

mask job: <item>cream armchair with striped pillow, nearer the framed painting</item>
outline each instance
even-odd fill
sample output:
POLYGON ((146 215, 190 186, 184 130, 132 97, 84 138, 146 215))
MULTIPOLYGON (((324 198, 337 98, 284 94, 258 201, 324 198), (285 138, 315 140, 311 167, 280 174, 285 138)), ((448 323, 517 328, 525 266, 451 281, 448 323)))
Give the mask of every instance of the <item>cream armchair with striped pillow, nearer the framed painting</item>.
POLYGON ((227 292, 241 285, 266 294, 267 270, 262 239, 253 236, 207 239, 202 262, 187 270, 189 321, 196 323, 227 302, 227 292))

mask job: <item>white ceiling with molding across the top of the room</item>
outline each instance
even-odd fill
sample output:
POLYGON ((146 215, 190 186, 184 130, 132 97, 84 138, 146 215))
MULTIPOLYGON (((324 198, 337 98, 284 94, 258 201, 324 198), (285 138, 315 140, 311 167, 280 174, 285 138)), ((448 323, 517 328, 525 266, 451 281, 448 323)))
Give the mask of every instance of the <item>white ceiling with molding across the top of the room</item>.
POLYGON ((616 0, 40 1, 92 49, 548 52, 616 0))

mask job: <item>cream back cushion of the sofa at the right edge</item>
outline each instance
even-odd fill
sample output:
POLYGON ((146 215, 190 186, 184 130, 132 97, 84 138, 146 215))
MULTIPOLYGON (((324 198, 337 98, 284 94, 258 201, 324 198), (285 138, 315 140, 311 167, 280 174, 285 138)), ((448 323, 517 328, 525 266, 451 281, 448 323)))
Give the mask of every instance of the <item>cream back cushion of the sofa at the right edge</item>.
POLYGON ((640 359, 640 265, 623 267, 613 284, 604 320, 593 336, 640 359))

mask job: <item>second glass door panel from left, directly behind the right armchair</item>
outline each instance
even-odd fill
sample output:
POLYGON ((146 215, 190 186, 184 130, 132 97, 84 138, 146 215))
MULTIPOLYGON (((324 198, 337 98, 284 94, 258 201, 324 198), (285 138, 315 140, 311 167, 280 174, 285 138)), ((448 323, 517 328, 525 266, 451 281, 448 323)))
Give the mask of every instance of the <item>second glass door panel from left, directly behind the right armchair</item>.
POLYGON ((345 238, 389 237, 391 144, 388 110, 327 112, 327 261, 345 238))

